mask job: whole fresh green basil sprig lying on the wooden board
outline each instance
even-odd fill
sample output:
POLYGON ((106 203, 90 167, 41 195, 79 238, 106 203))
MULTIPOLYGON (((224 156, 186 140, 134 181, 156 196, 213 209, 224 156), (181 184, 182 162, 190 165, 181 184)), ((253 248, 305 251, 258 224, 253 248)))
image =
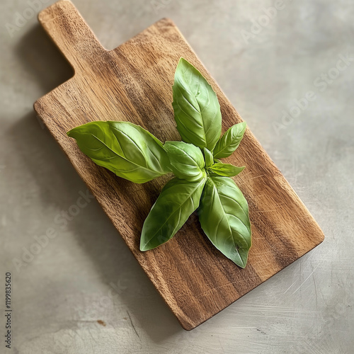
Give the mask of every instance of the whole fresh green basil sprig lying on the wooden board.
POLYGON ((173 173, 145 219, 140 250, 169 241, 198 209, 212 244, 244 268, 251 248, 249 207, 230 178, 243 167, 223 164, 244 137, 241 122, 221 135, 222 115, 212 86, 181 58, 174 77, 173 110, 182 142, 162 142, 130 122, 96 121, 67 132, 96 164, 134 183, 173 173))

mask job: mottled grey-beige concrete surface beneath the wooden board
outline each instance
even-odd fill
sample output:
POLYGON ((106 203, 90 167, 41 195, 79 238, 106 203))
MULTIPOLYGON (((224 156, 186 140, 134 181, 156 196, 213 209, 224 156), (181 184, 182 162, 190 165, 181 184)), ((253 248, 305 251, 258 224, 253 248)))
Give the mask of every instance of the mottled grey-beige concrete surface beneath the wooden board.
MULTIPOLYGON (((0 353, 353 353, 353 59, 335 69, 340 55, 354 58, 353 1, 284 1, 268 21, 263 8, 275 1, 75 4, 107 49, 172 18, 326 239, 184 331, 96 201, 66 227, 55 222, 86 187, 32 105, 72 72, 30 11, 8 33, 29 4, 2 0, 0 282, 11 271, 14 312, 13 349, 1 341, 0 353), (245 40, 253 20, 264 25, 245 40), (321 74, 333 79, 323 84, 321 74), (284 125, 282 111, 309 91, 315 99, 284 125), (36 249, 49 228, 57 236, 36 249)), ((3 338, 4 319, 0 329, 3 338)))

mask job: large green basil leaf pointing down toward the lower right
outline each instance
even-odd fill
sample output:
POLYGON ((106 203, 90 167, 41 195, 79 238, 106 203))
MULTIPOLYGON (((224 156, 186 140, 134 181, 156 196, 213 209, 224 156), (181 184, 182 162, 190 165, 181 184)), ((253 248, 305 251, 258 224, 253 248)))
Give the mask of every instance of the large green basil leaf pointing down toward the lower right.
POLYGON ((199 220, 212 244, 244 268, 251 247, 249 207, 231 178, 207 178, 200 200, 199 220))

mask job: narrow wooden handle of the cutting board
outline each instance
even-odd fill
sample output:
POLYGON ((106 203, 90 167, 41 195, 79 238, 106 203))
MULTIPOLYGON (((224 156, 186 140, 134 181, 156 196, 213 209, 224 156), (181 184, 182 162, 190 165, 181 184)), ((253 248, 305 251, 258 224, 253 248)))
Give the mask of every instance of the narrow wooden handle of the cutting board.
POLYGON ((69 0, 57 1, 38 14, 38 21, 74 68, 84 71, 97 65, 106 50, 69 0), (93 62, 93 58, 95 61, 93 62))

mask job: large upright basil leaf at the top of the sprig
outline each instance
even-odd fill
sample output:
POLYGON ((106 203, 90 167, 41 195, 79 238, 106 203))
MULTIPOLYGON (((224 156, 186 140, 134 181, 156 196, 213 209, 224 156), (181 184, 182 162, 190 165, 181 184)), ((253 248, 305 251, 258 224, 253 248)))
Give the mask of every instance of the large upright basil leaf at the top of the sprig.
POLYGON ((222 115, 212 86, 192 64, 181 58, 174 76, 173 110, 184 142, 214 149, 221 135, 222 115))

